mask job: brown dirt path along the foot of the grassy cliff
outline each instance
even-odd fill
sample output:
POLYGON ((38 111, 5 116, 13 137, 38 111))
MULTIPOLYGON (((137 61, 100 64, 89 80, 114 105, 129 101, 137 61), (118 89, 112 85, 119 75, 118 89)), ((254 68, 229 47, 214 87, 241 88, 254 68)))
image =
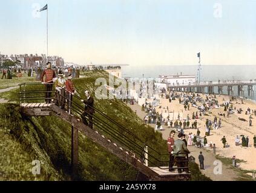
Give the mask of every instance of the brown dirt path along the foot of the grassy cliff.
MULTIPOLYGON (((130 105, 128 106, 136 113, 137 115, 143 119, 144 116, 146 115, 145 112, 142 112, 141 106, 138 104, 130 105)), ((149 124, 153 128, 155 127, 154 124, 149 124)), ((167 126, 163 125, 164 130, 159 131, 162 133, 163 139, 167 139, 169 136, 169 132, 171 131, 171 128, 168 128, 167 126)), ((188 146, 189 151, 191 151, 191 156, 195 157, 195 162, 199 164, 199 153, 202 151, 203 156, 205 157, 205 169, 201 170, 202 174, 205 174, 205 176, 209 177, 210 179, 214 181, 234 181, 235 178, 237 178, 236 172, 229 168, 227 165, 222 165, 222 174, 214 174, 214 168, 217 165, 214 165, 214 161, 217 160, 215 155, 211 152, 211 150, 206 150, 205 148, 197 148, 195 146, 188 146)), ((216 152, 218 154, 218 152, 216 152)))

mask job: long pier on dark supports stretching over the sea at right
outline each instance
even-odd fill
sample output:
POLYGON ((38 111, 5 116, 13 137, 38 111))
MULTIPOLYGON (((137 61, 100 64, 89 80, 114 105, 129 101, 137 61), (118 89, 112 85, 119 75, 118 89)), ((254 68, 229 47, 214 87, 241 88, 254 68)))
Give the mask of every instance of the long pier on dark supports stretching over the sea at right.
POLYGON ((214 87, 217 87, 218 94, 225 94, 223 90, 226 87, 228 95, 234 96, 234 87, 237 87, 237 95, 245 97, 245 89, 248 90, 248 96, 254 95, 254 85, 256 80, 249 81, 208 81, 200 82, 199 84, 170 84, 166 83, 170 90, 197 92, 197 93, 210 93, 214 94, 214 87))

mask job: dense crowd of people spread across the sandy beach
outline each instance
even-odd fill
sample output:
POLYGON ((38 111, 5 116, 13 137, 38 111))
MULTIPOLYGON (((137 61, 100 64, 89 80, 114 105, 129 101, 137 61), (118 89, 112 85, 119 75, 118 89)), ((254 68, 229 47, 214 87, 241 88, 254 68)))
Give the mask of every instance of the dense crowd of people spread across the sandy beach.
MULTIPOLYGON (((179 100, 179 104, 183 106, 183 113, 186 112, 186 110, 190 110, 191 108, 196 108, 196 112, 192 112, 192 115, 186 116, 186 118, 181 118, 178 116, 177 119, 171 119, 169 116, 163 117, 162 113, 158 113, 156 111, 156 108, 160 107, 162 109, 165 109, 169 112, 168 107, 164 108, 161 107, 159 104, 159 101, 157 103, 145 103, 142 106, 142 109, 145 110, 147 115, 144 118, 144 121, 146 124, 156 124, 156 130, 162 130, 162 125, 166 125, 168 128, 174 129, 174 131, 179 132, 182 135, 182 138, 186 138, 185 130, 186 129, 195 129, 194 132, 188 133, 188 136, 186 139, 188 139, 188 142, 186 145, 192 146, 195 145, 195 147, 198 148, 211 148, 213 153, 215 154, 216 151, 216 145, 212 141, 208 141, 207 137, 211 135, 212 130, 218 130, 222 129, 222 121, 223 119, 229 119, 234 114, 241 114, 245 113, 245 115, 249 116, 249 127, 252 126, 252 119, 253 116, 256 116, 256 110, 252 110, 248 107, 248 109, 242 109, 236 108, 236 104, 240 104, 237 101, 237 98, 235 96, 231 96, 229 98, 229 101, 225 100, 223 98, 223 102, 220 103, 220 101, 217 100, 216 95, 211 94, 201 94, 198 93, 185 93, 185 92, 174 92, 174 91, 167 91, 159 93, 160 97, 168 99, 169 103, 171 103, 173 100, 179 100), (203 97, 204 96, 204 97, 203 97), (213 119, 206 118, 207 116, 212 114, 212 109, 219 109, 218 110, 218 117, 214 116, 213 119), (222 110, 223 109, 223 110, 222 110), (205 132, 202 133, 202 126, 201 128, 198 128, 197 120, 202 120, 202 117, 206 118, 205 121, 205 132), (221 118, 223 116, 223 118, 221 118), (201 131, 200 131, 201 130, 201 131), (201 134, 201 135, 200 135, 201 134)), ((153 100, 156 101, 156 100, 153 100)), ((243 104, 243 100, 241 100, 241 103, 243 104)), ((238 118, 240 121, 246 121, 244 118, 238 118)), ((249 147, 249 136, 241 135, 241 144, 240 144, 240 137, 237 136, 235 138, 235 145, 241 145, 242 147, 249 147)), ((169 138, 168 138, 169 139, 169 138)), ((223 144, 223 148, 230 147, 230 144, 228 144, 228 141, 226 139, 226 136, 223 136, 220 138, 220 141, 223 144)), ((230 142, 229 142, 230 143, 230 142)), ((253 147, 256 148, 256 136, 253 138, 253 147)), ((202 156, 201 156, 202 157, 202 156)), ((170 158, 171 160, 171 158, 170 158)), ((171 161, 170 161, 171 162, 171 161)), ((202 166, 203 168, 203 166, 202 166)))

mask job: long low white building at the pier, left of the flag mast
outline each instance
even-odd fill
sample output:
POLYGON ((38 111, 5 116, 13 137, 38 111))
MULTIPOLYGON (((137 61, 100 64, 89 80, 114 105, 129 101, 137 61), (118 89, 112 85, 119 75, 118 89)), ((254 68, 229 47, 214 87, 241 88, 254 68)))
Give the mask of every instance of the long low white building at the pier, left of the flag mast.
POLYGON ((161 83, 171 85, 186 85, 195 83, 195 75, 159 75, 161 83))

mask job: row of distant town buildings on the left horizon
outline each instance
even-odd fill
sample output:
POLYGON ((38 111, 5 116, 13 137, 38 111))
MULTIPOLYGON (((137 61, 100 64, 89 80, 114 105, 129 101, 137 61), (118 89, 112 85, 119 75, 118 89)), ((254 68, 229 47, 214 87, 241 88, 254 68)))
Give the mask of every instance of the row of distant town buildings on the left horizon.
MULTIPOLYGON (((17 62, 18 66, 21 66, 21 68, 45 68, 47 60, 45 54, 20 54, 20 55, 1 55, 0 54, 0 65, 2 66, 2 63, 4 63, 5 60, 10 60, 12 62, 17 62)), ((48 62, 51 62, 52 66, 64 66, 64 59, 59 56, 48 56, 48 62)))

